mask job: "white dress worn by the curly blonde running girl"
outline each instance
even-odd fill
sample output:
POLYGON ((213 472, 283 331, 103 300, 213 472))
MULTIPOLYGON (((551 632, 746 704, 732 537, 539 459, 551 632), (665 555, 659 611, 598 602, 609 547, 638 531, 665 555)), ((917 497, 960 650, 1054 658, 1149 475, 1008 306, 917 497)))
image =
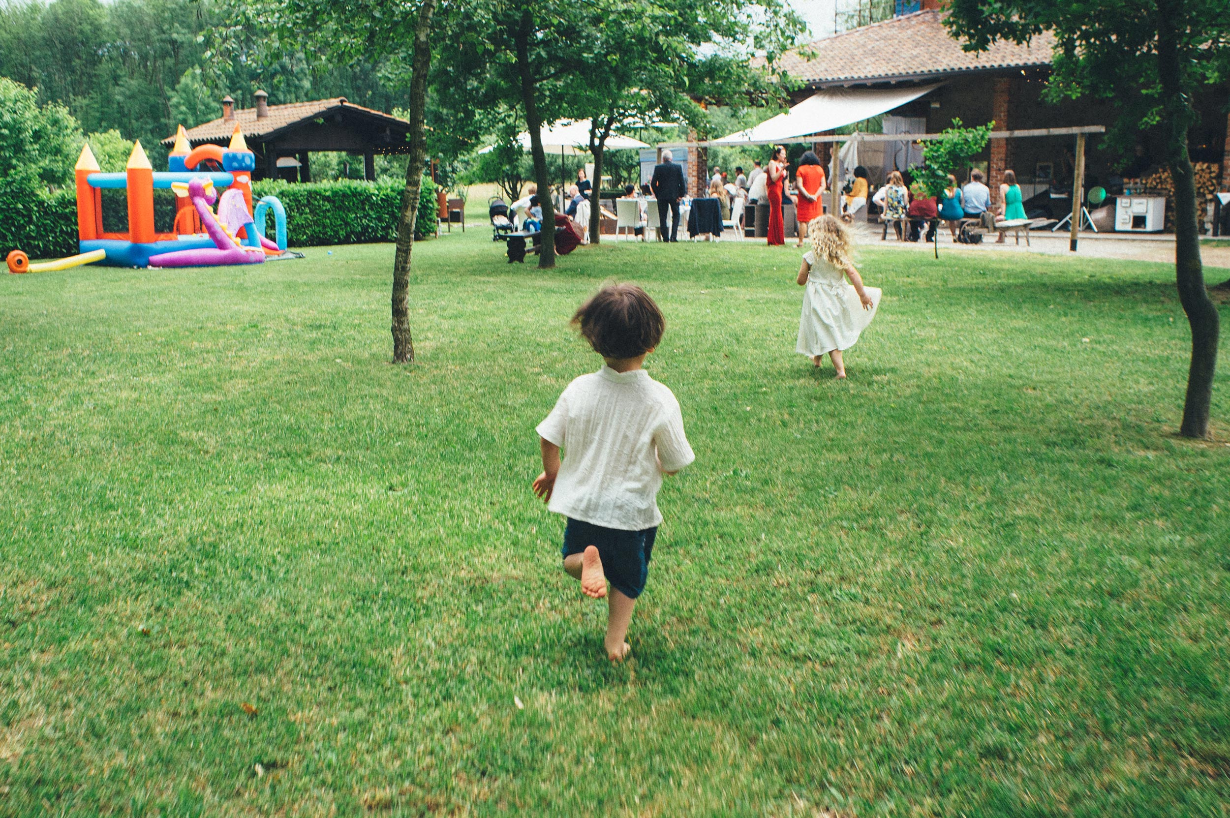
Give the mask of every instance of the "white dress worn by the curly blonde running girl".
POLYGON ((863 288, 871 296, 871 309, 865 310, 859 290, 846 280, 844 269, 817 260, 814 252, 803 253, 803 261, 811 271, 803 288, 803 315, 798 321, 795 351, 811 358, 834 349, 849 349, 876 317, 879 288, 863 288))

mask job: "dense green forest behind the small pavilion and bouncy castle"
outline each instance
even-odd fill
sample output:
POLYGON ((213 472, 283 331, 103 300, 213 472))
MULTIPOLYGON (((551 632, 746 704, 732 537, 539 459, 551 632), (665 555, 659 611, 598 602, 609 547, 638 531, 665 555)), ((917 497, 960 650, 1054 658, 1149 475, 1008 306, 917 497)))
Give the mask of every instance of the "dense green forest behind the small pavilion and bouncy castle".
MULTIPOLYGON (((405 105, 405 90, 383 82, 379 65, 309 55, 218 0, 0 2, 0 76, 37 87, 43 105, 63 105, 96 153, 130 150, 139 139, 155 166, 166 156, 160 140, 177 124, 221 116, 228 93, 239 108, 252 107, 260 89, 271 105, 335 96, 386 112, 405 105)), ((315 177, 342 176, 344 155, 321 159, 315 177)), ((405 160, 380 160, 379 175, 403 172, 405 160)), ((363 162, 349 165, 362 177, 363 162)))

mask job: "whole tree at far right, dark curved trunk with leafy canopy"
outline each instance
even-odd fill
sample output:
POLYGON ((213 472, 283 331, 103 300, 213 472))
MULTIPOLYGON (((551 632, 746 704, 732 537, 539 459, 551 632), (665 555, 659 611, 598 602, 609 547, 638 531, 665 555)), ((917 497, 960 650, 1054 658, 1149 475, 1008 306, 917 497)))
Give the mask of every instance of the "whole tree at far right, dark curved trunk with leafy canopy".
MULTIPOLYGON (((1118 134, 1164 124, 1175 181, 1175 273, 1192 331, 1192 358, 1180 433, 1205 437, 1216 369, 1219 317, 1204 287, 1196 218, 1196 177, 1187 150, 1202 85, 1230 77, 1230 15, 1225 0, 952 0, 947 26, 985 50, 1007 39, 1055 37, 1047 95, 1112 100, 1118 134)), ((1114 134, 1112 134, 1113 138, 1114 134)))

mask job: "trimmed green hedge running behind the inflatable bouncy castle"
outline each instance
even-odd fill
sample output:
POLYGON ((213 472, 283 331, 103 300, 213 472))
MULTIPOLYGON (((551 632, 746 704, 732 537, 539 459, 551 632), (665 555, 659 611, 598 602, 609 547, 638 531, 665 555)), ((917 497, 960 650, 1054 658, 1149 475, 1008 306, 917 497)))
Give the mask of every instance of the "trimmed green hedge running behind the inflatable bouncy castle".
MULTIPOLYGON (((252 193, 282 199, 290 246, 314 247, 395 241, 402 188, 400 182, 256 182, 252 193)), ((435 235, 435 186, 427 177, 417 221, 416 239, 435 235)), ((23 250, 31 258, 77 253, 74 189, 32 193, 0 181, 0 258, 10 250, 23 250)))

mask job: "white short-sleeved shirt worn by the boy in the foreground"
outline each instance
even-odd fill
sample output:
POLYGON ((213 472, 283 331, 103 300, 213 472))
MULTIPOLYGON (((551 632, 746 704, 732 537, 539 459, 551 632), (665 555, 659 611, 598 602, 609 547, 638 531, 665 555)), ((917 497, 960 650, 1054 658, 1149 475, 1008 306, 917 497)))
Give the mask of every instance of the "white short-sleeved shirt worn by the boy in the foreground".
POLYGON ((625 531, 662 523, 662 472, 696 459, 679 401, 643 369, 577 378, 538 433, 563 449, 547 509, 625 531))

